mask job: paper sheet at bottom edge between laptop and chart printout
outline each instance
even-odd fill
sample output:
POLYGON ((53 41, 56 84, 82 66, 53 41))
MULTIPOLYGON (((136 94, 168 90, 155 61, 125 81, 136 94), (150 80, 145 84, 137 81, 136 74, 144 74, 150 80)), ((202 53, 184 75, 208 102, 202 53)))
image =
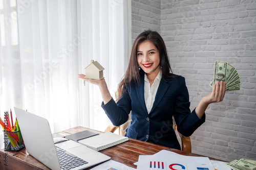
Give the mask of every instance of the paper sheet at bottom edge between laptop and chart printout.
POLYGON ((116 162, 113 160, 106 161, 91 170, 135 170, 135 168, 116 162))

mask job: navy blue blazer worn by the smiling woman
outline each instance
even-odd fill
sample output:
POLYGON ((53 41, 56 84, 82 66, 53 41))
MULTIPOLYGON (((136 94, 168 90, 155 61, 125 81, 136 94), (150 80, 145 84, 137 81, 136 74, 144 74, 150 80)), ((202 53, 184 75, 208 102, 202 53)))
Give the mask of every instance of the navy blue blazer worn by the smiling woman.
POLYGON ((140 84, 127 85, 117 103, 112 99, 105 105, 102 103, 101 107, 115 126, 124 124, 132 110, 132 122, 125 136, 180 150, 172 117, 178 131, 190 136, 205 122, 205 114, 199 119, 195 109, 190 113, 188 90, 181 76, 170 79, 162 76, 155 102, 148 114, 144 100, 144 74, 140 74, 140 77, 140 84))

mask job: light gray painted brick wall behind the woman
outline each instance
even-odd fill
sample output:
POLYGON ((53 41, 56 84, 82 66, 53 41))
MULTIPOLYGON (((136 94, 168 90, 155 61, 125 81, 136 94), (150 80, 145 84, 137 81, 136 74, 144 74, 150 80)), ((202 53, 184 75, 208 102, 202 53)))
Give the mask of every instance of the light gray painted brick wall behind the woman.
POLYGON ((132 35, 145 29, 165 40, 175 74, 186 79, 191 108, 210 93, 214 62, 236 67, 241 90, 211 104, 190 137, 192 152, 224 161, 256 159, 255 0, 132 0, 132 35))

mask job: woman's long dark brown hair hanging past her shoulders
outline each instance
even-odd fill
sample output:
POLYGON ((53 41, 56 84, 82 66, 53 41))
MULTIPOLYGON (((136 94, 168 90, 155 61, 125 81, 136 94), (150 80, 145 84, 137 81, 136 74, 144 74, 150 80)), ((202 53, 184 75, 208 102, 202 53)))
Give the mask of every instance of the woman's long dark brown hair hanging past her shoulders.
POLYGON ((118 89, 116 92, 116 100, 118 101, 122 95, 124 89, 126 89, 127 84, 140 83, 140 75, 139 71, 144 72, 142 69, 139 70, 139 64, 137 61, 137 49, 138 45, 144 41, 151 41, 159 51, 160 56, 160 67, 162 69, 162 77, 163 78, 172 78, 176 77, 172 74, 172 69, 170 68, 170 63, 168 60, 167 50, 164 44, 162 37, 156 31, 152 30, 145 30, 144 32, 140 33, 137 38, 135 39, 132 47, 130 62, 128 68, 124 74, 124 78, 118 85, 118 89))

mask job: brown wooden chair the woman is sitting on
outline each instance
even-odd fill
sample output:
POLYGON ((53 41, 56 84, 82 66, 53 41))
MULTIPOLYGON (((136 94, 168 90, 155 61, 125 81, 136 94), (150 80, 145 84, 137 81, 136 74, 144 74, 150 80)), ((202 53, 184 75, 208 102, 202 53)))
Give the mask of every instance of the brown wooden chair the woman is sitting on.
MULTIPOLYGON (((114 133, 117 129, 119 129, 119 135, 122 135, 122 136, 124 136, 124 134, 122 134, 122 126, 125 126, 125 129, 127 128, 127 126, 128 125, 130 125, 130 122, 129 122, 130 120, 128 120, 126 123, 124 123, 123 125, 121 125, 121 126, 114 126, 114 125, 109 125, 106 129, 105 129, 105 132, 112 132, 112 133, 114 133), (125 125, 125 124, 128 124, 128 125, 125 125)), ((173 118, 173 128, 175 129, 175 131, 177 131, 178 132, 178 130, 177 130, 177 125, 176 125, 176 123, 175 123, 175 120, 174 120, 174 118, 173 118)), ((181 139, 181 150, 182 151, 185 151, 185 152, 190 152, 191 153, 191 141, 190 141, 190 137, 188 136, 188 137, 186 137, 186 136, 183 136, 182 134, 180 134, 179 132, 178 132, 178 134, 179 134, 179 136, 180 136, 180 139, 181 139)))

